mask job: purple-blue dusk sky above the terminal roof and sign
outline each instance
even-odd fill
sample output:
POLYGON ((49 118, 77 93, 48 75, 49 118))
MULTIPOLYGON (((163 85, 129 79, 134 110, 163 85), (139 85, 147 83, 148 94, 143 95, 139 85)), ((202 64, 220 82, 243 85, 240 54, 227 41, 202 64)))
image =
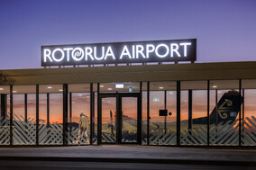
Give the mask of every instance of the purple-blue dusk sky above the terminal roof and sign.
POLYGON ((255 0, 0 0, 0 69, 41 68, 41 45, 197 39, 197 63, 256 61, 255 0))

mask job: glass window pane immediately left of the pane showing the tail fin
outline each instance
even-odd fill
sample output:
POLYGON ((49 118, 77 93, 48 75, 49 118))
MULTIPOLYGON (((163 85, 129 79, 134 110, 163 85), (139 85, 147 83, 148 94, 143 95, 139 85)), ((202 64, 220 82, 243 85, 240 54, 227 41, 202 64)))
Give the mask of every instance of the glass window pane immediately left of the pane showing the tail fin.
POLYGON ((207 81, 182 81, 180 144, 207 144, 207 81))

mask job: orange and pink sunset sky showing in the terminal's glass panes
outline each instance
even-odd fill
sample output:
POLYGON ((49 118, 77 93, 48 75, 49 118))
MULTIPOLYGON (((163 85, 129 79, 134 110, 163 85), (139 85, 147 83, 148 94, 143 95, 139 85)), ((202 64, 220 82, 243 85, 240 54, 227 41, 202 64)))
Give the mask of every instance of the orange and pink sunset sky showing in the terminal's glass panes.
MULTIPOLYGON (((224 93, 228 90, 218 90, 218 100, 222 97, 224 93)), ((256 90, 245 89, 244 98, 244 116, 251 117, 255 116, 256 104, 254 103, 254 96, 256 96, 256 90)), ((9 96, 8 96, 9 98, 9 96)), ((36 96, 35 94, 28 94, 28 118, 35 119, 36 111, 36 96)), ((188 119, 188 93, 187 91, 181 91, 181 121, 188 119)), ((159 110, 164 109, 164 91, 151 91, 150 98, 150 113, 151 117, 158 117, 159 110)), ((110 110, 115 114, 115 106, 111 106, 110 103, 114 103, 111 98, 103 101, 105 107, 103 108, 103 117, 109 117, 110 110), (109 104, 108 104, 109 103, 109 104), (111 107, 110 107, 111 106, 111 107)), ((130 103, 129 99, 123 99, 125 103, 125 109, 123 108, 124 115, 135 116, 136 111, 132 111, 129 108, 135 108, 134 104, 130 103)), ((142 95, 142 112, 143 116, 146 116, 146 103, 147 97, 146 92, 142 95)), ((72 117, 79 117, 80 112, 84 112, 87 117, 90 116, 90 97, 89 93, 73 93, 72 94, 72 117)), ((192 99, 192 111, 193 119, 206 117, 206 107, 207 107, 207 91, 206 90, 193 90, 192 99)), ((210 113, 215 108, 215 90, 210 91, 210 113)), ((40 94, 40 120, 47 121, 47 94, 40 94)), ((167 109, 171 112, 171 116, 176 116, 176 92, 167 91, 167 109)), ((9 100, 8 100, 8 112, 9 112, 9 100)), ((14 94, 14 114, 24 116, 24 95, 14 94)), ((169 116, 169 115, 168 115, 169 116)), ((62 123, 62 94, 50 94, 50 122, 62 123)))

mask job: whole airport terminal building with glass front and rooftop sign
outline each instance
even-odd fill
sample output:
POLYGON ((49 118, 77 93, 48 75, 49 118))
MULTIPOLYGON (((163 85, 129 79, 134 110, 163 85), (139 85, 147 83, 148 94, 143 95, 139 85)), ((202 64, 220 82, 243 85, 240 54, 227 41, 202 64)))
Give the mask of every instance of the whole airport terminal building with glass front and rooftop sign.
POLYGON ((0 70, 0 146, 255 147, 256 62, 196 60, 195 39, 42 46, 0 70))

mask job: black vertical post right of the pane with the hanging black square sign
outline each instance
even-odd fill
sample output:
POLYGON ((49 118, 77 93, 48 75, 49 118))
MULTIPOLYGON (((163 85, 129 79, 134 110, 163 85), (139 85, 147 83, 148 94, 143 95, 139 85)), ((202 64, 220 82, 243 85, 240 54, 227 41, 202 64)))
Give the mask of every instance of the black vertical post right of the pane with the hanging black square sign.
POLYGON ((177 81, 177 146, 180 145, 180 81, 177 81))

